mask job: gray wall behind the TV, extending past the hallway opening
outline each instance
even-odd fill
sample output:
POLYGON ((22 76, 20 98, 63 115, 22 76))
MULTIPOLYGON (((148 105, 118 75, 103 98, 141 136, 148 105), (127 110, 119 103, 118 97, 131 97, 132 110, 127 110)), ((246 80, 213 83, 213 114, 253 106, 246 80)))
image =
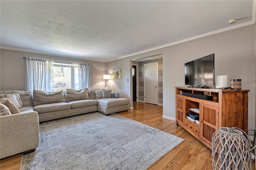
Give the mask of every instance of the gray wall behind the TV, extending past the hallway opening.
MULTIPOLYGON (((248 129, 255 129, 256 90, 256 26, 255 24, 172 45, 147 53, 107 63, 107 69, 122 68, 122 79, 113 80, 110 88, 122 89, 130 98, 130 61, 163 54, 163 117, 175 119, 175 86, 184 86, 184 63, 215 53, 216 76, 228 75, 242 79, 242 89, 248 94, 248 129)), ((230 82, 228 81, 228 85, 230 82)), ((132 102, 130 102, 132 106, 132 102)), ((243 113, 241 113, 243 114, 243 113)))

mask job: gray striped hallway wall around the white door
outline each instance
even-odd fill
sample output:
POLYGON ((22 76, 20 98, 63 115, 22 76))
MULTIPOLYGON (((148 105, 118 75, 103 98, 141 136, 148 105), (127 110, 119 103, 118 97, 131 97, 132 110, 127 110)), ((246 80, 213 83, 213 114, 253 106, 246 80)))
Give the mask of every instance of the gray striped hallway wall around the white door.
POLYGON ((139 100, 144 102, 144 64, 158 62, 158 104, 163 104, 163 59, 139 63, 139 100))

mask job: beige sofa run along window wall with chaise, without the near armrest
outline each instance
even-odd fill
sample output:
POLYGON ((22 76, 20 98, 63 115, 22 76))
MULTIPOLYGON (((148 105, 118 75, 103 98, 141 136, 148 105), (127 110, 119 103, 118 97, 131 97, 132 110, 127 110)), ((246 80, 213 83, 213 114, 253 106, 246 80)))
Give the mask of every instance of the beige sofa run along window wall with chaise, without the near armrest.
POLYGON ((129 100, 125 98, 111 98, 108 88, 93 88, 72 90, 66 92, 44 92, 34 90, 33 100, 31 92, 18 90, 1 90, 0 94, 20 94, 23 107, 19 110, 38 112, 39 121, 47 121, 71 115, 100 111, 105 115, 128 110, 129 100), (96 95, 104 90, 108 96, 96 95))

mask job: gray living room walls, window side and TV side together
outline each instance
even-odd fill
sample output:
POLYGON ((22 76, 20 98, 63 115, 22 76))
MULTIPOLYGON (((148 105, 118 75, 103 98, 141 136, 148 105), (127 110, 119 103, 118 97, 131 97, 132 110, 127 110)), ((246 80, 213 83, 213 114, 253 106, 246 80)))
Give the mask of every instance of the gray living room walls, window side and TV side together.
MULTIPOLYGON (((184 63, 215 53, 215 80, 218 75, 228 75, 228 80, 239 78, 242 79, 242 89, 250 90, 248 93, 248 129, 255 129, 255 40, 256 25, 253 24, 108 63, 89 61, 92 64, 91 88, 104 86, 102 74, 105 72, 112 74, 114 68, 121 68, 122 78, 108 80, 107 84, 113 91, 120 92, 121 97, 130 99, 132 98, 130 90, 132 60, 163 54, 163 117, 174 120, 175 86, 184 86, 184 63)), ((24 90, 23 57, 63 59, 63 57, 3 49, 0 55, 1 90, 24 90)), ((73 58, 65 58, 65 60, 84 62, 84 60, 73 58)), ((130 100, 130 107, 132 106, 132 100, 130 100)))

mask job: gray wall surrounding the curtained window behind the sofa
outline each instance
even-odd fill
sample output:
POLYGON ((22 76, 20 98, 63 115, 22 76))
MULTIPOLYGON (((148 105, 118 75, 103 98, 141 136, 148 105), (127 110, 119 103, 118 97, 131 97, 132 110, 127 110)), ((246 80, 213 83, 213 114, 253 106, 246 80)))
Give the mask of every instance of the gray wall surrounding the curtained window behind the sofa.
POLYGON ((82 59, 58 57, 27 53, 22 51, 0 49, 0 89, 24 90, 25 89, 25 60, 23 57, 36 57, 61 61, 81 62, 91 64, 91 88, 105 87, 103 74, 106 72, 106 63, 82 59))

